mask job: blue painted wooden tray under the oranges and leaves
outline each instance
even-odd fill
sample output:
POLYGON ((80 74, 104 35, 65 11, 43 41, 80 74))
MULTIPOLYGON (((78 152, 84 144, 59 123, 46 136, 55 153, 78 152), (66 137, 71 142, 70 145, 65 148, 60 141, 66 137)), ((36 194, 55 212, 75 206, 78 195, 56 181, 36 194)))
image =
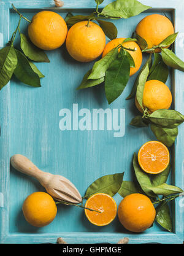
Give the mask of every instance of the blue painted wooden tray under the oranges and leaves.
MULTIPOLYGON (((111 0, 105 0, 101 7, 109 2, 111 0)), ((175 53, 184 60, 184 6, 181 1, 141 0, 141 2, 153 7, 150 10, 151 14, 166 12, 172 18, 175 31, 179 31, 175 42, 175 53)), ((95 7, 93 0, 67 0, 62 9, 55 9, 53 1, 46 0, 27 3, 14 0, 13 4, 29 19, 42 9, 54 10, 62 17, 66 17, 68 11, 88 14, 95 7)), ((0 12, 0 47, 4 47, 17 26, 18 15, 12 11, 8 1, 0 1, 0 12)), ((145 15, 148 13, 128 20, 114 20, 118 28, 118 37, 130 37, 137 23, 145 15)), ((27 25, 26 21, 21 22, 23 33, 26 33, 27 25)), ((18 41, 17 36, 15 45, 18 41)), ((0 93, 0 242, 56 242, 59 236, 66 242, 72 243, 117 242, 127 236, 130 243, 182 243, 184 229, 182 198, 177 198, 171 204, 173 233, 164 231, 156 223, 144 233, 128 233, 118 219, 107 227, 95 227, 88 222, 82 209, 69 206, 58 206, 56 219, 47 227, 35 228, 26 222, 21 211, 23 201, 29 194, 44 191, 44 188, 36 180, 10 168, 9 159, 13 154, 26 155, 40 169, 67 177, 84 195, 88 185, 102 175, 125 171, 124 180, 132 179, 133 153, 137 152, 145 142, 155 139, 148 128, 136 129, 129 126, 131 118, 137 114, 137 111, 133 100, 126 101, 125 98, 129 95, 136 76, 131 77, 123 94, 109 106, 105 100, 103 87, 75 90, 93 63, 83 64, 72 60, 64 47, 48 52, 48 57, 50 63, 37 64, 40 71, 45 74, 41 88, 27 87, 13 78, 0 93), (83 108, 88 109, 91 114, 93 109, 109 108, 110 111, 118 109, 120 115, 120 109, 123 109, 122 116, 125 119, 123 119, 121 136, 115 131, 115 127, 107 131, 106 126, 104 130, 82 131, 78 128, 78 130, 61 131, 59 113, 62 114, 61 109, 69 109, 73 115, 73 107, 78 107, 79 111, 83 108), (115 133, 120 137, 116 137, 115 133)), ((174 98, 172 107, 182 113, 184 113, 183 79, 182 72, 171 71, 167 80, 174 98)), ((184 126, 181 125, 177 141, 171 150, 173 169, 168 182, 182 188, 184 188, 183 141, 184 126)), ((115 200, 119 203, 121 197, 117 195, 115 200)))

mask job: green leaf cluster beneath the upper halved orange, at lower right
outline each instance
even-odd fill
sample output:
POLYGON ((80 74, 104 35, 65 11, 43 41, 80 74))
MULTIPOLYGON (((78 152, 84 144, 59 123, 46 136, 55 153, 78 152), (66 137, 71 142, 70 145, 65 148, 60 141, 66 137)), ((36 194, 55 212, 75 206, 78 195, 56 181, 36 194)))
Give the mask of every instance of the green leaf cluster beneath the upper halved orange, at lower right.
POLYGON ((157 204, 156 222, 166 230, 172 231, 171 212, 167 203, 174 200, 180 193, 183 193, 183 190, 179 187, 166 184, 171 165, 169 164, 162 173, 150 175, 140 168, 137 154, 134 153, 133 166, 136 181, 123 180, 118 193, 122 197, 132 193, 142 193, 147 195, 154 205, 157 204), (160 195, 163 197, 160 198, 160 195))

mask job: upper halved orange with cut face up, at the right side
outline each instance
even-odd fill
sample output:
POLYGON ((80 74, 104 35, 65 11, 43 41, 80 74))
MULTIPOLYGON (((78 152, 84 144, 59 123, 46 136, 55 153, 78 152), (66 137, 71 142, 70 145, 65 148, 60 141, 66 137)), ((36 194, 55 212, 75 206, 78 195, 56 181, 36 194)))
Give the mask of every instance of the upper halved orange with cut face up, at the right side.
POLYGON ((140 147, 138 161, 146 173, 161 173, 169 165, 169 150, 159 141, 148 141, 140 147))

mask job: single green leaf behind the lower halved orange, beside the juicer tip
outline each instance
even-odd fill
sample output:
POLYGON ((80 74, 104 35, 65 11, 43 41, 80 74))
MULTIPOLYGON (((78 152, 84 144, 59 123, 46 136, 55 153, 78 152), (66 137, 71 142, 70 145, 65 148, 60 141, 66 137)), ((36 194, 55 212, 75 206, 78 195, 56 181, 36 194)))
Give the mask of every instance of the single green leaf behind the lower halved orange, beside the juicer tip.
POLYGON ((105 175, 95 180, 86 190, 85 198, 89 198, 95 193, 106 193, 114 196, 121 187, 124 173, 105 175))

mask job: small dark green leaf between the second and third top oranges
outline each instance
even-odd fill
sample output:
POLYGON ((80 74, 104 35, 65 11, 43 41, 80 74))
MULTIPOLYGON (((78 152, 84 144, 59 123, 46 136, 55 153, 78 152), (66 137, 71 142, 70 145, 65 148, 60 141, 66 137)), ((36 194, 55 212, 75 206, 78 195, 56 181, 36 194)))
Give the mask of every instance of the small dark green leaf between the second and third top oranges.
POLYGON ((96 20, 101 26, 102 30, 105 33, 105 36, 109 37, 110 40, 117 38, 118 30, 117 27, 109 21, 96 20))

